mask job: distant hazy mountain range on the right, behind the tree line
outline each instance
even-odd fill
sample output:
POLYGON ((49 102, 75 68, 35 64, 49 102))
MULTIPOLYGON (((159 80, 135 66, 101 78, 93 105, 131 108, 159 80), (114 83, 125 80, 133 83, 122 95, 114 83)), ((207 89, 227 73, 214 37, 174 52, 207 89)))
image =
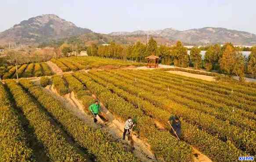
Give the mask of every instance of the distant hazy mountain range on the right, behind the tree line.
POLYGON ((180 40, 189 44, 225 43, 232 42, 235 45, 256 45, 256 35, 249 32, 231 30, 227 28, 205 27, 179 31, 173 28, 163 30, 112 32, 109 35, 154 35, 171 40, 180 40))

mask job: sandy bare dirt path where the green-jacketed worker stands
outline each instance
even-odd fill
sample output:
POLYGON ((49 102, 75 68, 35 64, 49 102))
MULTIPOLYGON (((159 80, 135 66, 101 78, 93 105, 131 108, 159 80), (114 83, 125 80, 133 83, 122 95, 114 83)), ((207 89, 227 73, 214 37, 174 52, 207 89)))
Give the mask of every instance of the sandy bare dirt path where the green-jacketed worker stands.
POLYGON ((107 131, 112 135, 114 141, 119 142, 123 145, 125 149, 133 151, 133 155, 137 158, 140 158, 142 162, 156 162, 155 155, 150 151, 149 144, 145 144, 136 135, 133 135, 133 143, 125 140, 122 140, 123 136, 123 125, 124 123, 120 123, 115 117, 110 113, 104 105, 101 105, 102 110, 107 114, 108 123, 105 126, 100 124, 95 124, 92 116, 88 115, 83 110, 83 105, 81 102, 76 99, 74 93, 69 93, 64 97, 58 95, 58 92, 54 88, 54 85, 50 85, 46 87, 46 91, 50 93, 55 99, 58 99, 63 103, 63 106, 66 109, 69 109, 72 113, 74 113, 79 119, 83 120, 87 126, 101 128, 101 130, 107 131), (135 149, 133 149, 133 147, 135 149))

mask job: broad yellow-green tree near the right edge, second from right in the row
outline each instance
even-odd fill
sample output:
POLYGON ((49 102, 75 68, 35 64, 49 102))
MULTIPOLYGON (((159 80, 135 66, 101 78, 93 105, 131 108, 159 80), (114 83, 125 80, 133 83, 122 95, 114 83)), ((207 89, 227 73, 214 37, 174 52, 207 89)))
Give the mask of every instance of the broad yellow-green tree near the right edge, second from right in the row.
POLYGON ((226 74, 235 74, 239 76, 239 80, 242 80, 245 71, 245 57, 234 46, 227 44, 220 59, 220 68, 226 74))

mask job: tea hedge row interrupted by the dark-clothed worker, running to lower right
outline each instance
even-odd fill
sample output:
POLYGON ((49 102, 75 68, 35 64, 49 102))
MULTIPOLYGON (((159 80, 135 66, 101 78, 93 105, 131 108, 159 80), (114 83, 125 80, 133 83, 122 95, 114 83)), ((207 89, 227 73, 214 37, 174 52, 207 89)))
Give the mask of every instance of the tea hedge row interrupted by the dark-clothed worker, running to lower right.
MULTIPOLYGON (((112 85, 112 81, 108 80, 108 77, 102 75, 102 73, 97 76, 96 75, 97 74, 93 73, 93 75, 90 75, 90 77, 127 101, 133 103, 133 105, 143 109, 149 116, 152 116, 163 123, 166 123, 166 121, 169 119, 169 116, 171 115, 169 112, 154 106, 144 99, 138 98, 137 95, 132 95, 126 92, 127 89, 126 91, 123 91, 122 89, 115 87, 112 85), (101 80, 99 76, 106 81, 101 80)), ((216 137, 211 136, 202 130, 198 130, 197 127, 192 126, 185 121, 182 122, 182 125, 184 140, 192 145, 195 145, 214 161, 229 161, 231 159, 237 159, 238 155, 245 155, 245 153, 235 148, 233 144, 220 141, 216 137), (194 134, 191 134, 191 132, 194 132, 194 134), (196 138, 196 140, 194 138, 196 138)))

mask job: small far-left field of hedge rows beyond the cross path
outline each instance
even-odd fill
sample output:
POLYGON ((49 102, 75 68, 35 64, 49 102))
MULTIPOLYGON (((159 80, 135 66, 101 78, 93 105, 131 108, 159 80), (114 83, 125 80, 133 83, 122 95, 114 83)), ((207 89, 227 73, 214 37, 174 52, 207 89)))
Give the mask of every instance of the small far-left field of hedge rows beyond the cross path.
MULTIPOLYGON (((53 75, 47 63, 30 63, 18 65, 18 77, 41 77, 53 75)), ((0 72, 0 77, 3 79, 16 78, 16 67, 9 66, 0 72)))

